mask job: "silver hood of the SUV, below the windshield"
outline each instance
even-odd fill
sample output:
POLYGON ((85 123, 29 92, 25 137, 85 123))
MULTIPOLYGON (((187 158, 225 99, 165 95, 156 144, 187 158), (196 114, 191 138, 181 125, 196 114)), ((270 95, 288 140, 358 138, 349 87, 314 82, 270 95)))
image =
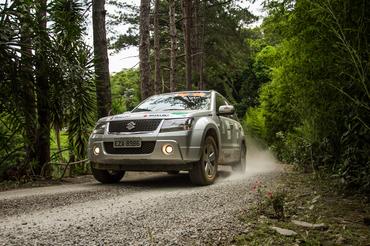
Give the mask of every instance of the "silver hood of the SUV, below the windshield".
POLYGON ((187 117, 201 117, 211 115, 210 110, 179 110, 162 112, 126 112, 123 114, 106 117, 106 121, 139 120, 139 119, 175 119, 187 117))

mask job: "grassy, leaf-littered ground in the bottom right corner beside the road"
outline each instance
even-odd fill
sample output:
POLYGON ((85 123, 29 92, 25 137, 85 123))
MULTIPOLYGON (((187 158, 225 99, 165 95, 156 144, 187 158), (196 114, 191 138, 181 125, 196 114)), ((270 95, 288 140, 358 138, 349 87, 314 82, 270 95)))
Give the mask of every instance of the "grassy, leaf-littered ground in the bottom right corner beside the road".
POLYGON ((366 196, 338 192, 339 186, 330 179, 317 179, 312 174, 292 170, 277 181, 264 184, 263 189, 285 192, 285 218, 276 219, 271 206, 261 209, 259 201, 266 197, 257 193, 252 208, 240 217, 246 229, 235 237, 236 245, 370 245, 370 226, 364 223, 370 217, 366 196), (292 220, 324 223, 327 228, 308 229, 293 224, 292 220), (280 235, 271 226, 293 230, 297 235, 280 235))

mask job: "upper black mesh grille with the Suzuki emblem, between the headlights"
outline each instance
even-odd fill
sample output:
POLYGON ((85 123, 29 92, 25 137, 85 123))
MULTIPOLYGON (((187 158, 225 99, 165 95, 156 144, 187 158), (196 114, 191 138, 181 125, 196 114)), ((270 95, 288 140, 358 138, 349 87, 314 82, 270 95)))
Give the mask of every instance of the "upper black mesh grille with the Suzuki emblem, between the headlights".
POLYGON ((111 121, 109 132, 152 132, 160 123, 161 119, 111 121))

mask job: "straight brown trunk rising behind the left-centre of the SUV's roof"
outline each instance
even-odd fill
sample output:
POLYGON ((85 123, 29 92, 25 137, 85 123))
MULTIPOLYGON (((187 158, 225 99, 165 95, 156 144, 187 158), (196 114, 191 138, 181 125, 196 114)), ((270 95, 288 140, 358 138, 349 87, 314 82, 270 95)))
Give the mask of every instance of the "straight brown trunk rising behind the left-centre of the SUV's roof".
POLYGON ((191 71, 191 26, 192 26, 192 0, 182 0, 182 12, 184 19, 184 48, 185 48, 185 80, 186 88, 192 89, 191 71))

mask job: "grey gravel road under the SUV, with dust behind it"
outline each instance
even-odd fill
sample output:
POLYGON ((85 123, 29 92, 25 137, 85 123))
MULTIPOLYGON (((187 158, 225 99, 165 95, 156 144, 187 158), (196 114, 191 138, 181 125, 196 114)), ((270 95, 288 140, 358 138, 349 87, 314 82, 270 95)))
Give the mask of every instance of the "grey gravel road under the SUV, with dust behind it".
POLYGON ((251 185, 279 170, 268 153, 248 154, 246 174, 220 171, 194 187, 188 175, 127 173, 121 183, 0 192, 0 245, 229 245, 251 185))

